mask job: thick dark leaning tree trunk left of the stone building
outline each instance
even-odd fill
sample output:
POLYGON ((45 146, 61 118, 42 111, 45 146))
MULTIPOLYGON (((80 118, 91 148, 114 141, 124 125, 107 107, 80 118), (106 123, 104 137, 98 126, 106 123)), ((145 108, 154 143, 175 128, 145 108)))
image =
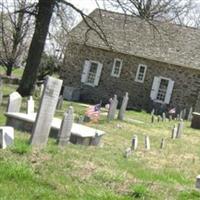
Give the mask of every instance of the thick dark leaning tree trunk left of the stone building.
POLYGON ((54 5, 55 0, 39 0, 35 31, 29 48, 22 80, 17 89, 22 96, 29 96, 33 92, 54 5))

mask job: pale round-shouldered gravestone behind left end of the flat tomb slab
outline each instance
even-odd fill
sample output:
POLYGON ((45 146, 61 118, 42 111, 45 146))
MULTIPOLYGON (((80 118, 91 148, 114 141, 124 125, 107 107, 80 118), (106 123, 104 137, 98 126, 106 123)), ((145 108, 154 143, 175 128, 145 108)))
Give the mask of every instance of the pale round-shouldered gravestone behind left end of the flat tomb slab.
POLYGON ((9 95, 7 112, 20 112, 22 97, 18 92, 9 95))

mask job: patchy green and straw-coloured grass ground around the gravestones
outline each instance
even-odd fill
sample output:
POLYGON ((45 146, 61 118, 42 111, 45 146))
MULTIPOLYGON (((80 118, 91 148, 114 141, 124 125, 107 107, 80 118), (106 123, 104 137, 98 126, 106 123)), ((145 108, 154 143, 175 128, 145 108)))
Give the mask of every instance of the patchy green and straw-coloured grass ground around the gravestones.
MULTIPOLYGON (((3 113, 8 94, 15 88, 3 86, 1 126, 6 121, 3 113)), ((24 112, 25 102, 26 98, 24 112)), ((77 116, 84 114, 85 106, 65 101, 56 116, 62 118, 71 104, 77 116)), ((61 148, 50 138, 42 150, 29 145, 29 134, 15 130, 14 144, 0 149, 0 199, 200 199, 195 189, 200 174, 200 131, 185 122, 182 137, 172 140, 171 130, 177 123, 152 124, 145 112, 127 111, 124 122, 108 123, 101 115, 97 124, 87 123, 106 132, 100 146, 69 144, 61 148), (138 136, 138 148, 125 158, 133 135, 138 136), (150 137, 148 151, 145 135, 150 137), (164 149, 160 149, 162 138, 164 149)))

